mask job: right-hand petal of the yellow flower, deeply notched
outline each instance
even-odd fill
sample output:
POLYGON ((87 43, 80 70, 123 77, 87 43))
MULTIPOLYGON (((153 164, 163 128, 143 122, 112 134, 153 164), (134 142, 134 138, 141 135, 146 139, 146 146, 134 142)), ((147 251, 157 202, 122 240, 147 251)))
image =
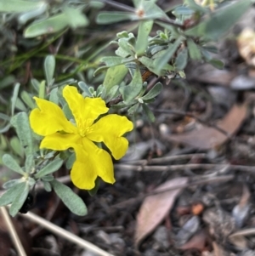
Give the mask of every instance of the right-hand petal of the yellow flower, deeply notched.
POLYGON ((103 141, 111 150, 112 156, 120 159, 125 155, 128 147, 128 141, 122 135, 132 129, 133 122, 127 117, 108 115, 92 125, 92 132, 87 134, 87 137, 96 142, 103 141))

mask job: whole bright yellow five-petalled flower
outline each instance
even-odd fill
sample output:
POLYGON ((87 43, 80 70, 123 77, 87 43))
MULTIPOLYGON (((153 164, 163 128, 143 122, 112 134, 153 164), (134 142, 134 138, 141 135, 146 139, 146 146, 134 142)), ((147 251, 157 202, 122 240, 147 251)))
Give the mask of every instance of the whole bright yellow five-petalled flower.
POLYGON ((34 97, 38 108, 31 111, 31 128, 44 136, 40 148, 65 151, 73 148, 76 161, 71 180, 80 189, 91 190, 99 176, 105 182, 115 182, 110 154, 94 142, 104 142, 115 159, 125 155, 128 141, 122 135, 133 129, 127 117, 115 114, 95 120, 108 111, 101 98, 83 98, 77 88, 65 86, 63 96, 75 122, 68 121, 60 107, 48 100, 34 97))

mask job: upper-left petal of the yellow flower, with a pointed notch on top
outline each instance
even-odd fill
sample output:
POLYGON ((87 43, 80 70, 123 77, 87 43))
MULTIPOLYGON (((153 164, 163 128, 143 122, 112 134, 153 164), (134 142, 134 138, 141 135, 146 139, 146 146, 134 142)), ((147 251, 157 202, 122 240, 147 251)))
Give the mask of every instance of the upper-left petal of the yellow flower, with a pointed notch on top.
POLYGON ((38 108, 31 111, 29 120, 32 130, 39 135, 46 136, 58 131, 74 133, 77 128, 69 122, 58 105, 48 100, 34 97, 38 108))

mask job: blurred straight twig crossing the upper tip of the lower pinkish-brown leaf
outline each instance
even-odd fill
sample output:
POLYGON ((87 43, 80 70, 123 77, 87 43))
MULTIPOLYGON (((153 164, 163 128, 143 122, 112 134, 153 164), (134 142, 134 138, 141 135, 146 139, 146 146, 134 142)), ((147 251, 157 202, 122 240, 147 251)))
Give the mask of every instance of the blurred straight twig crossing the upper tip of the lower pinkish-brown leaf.
POLYGON ((164 193, 164 192, 167 192, 167 191, 174 191, 174 190, 177 190, 177 189, 180 189, 180 188, 187 188, 187 187, 190 187, 190 186, 193 186, 193 185, 206 185, 206 184, 217 183, 217 182, 225 182, 225 181, 229 181, 231 179, 234 179, 234 177, 235 176, 232 175, 232 174, 231 175, 222 175, 222 176, 218 176, 218 177, 212 177, 210 179, 203 179, 203 180, 190 182, 188 184, 175 185, 175 186, 173 186, 169 189, 160 190, 160 191, 151 191, 149 193, 127 199, 124 202, 119 202, 119 203, 116 203, 115 205, 112 205, 110 208, 124 208, 124 207, 126 208, 127 205, 130 205, 130 204, 133 204, 133 203, 136 203, 136 202, 140 202, 140 201, 144 200, 144 198, 147 197, 147 196, 154 196, 154 195, 161 194, 161 193, 164 193))

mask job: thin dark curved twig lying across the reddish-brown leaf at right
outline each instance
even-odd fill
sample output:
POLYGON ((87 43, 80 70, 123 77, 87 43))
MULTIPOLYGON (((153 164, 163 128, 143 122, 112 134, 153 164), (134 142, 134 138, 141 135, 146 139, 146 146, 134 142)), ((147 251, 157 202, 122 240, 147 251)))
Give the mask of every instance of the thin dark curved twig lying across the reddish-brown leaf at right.
POLYGON ((220 132, 221 134, 224 134, 228 139, 232 139, 232 136, 225 131, 222 128, 219 128, 216 124, 214 123, 208 123, 204 120, 202 120, 199 117, 195 117, 195 115, 188 113, 188 112, 184 112, 184 111, 176 111, 176 110, 159 110, 159 109, 154 109, 153 111, 155 112, 159 112, 159 113, 165 113, 165 114, 169 114, 169 115, 178 115, 178 116, 183 116, 183 117, 192 117, 194 118, 196 121, 201 122, 202 124, 207 125, 208 127, 212 127, 215 128, 216 130, 218 130, 218 132, 220 132))

